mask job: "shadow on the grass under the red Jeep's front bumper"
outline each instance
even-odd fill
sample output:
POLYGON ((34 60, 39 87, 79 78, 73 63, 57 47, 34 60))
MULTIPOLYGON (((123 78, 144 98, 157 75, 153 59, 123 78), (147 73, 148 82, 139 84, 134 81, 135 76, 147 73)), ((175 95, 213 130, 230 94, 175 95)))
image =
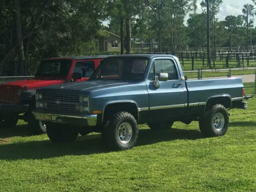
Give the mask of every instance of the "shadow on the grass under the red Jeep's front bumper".
POLYGON ((28 125, 17 125, 15 128, 1 128, 0 138, 10 138, 13 136, 31 136, 28 125))

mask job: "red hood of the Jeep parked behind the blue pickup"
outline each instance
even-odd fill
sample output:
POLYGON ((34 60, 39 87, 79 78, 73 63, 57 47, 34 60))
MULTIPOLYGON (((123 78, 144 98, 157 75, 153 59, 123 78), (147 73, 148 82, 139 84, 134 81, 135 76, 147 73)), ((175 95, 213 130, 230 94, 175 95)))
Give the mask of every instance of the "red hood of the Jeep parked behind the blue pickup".
POLYGON ((16 86, 16 87, 20 87, 21 89, 23 89, 24 86, 27 86, 28 89, 34 89, 34 88, 40 88, 40 87, 44 87, 44 86, 51 86, 51 85, 61 84, 63 82, 64 82, 64 80, 28 79, 28 80, 12 81, 12 82, 8 82, 8 83, 4 83, 2 85, 16 86))

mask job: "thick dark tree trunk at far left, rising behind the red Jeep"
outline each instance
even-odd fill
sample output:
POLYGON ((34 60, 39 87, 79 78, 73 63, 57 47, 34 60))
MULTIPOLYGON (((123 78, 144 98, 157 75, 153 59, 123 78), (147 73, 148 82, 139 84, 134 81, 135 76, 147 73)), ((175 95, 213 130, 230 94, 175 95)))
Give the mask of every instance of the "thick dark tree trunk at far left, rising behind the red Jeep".
POLYGON ((25 70, 24 70, 24 47, 23 47, 23 40, 22 40, 22 29, 21 29, 21 22, 20 22, 20 4, 19 0, 14 0, 14 17, 15 17, 15 22, 16 22, 16 41, 20 42, 18 44, 18 65, 21 69, 22 75, 25 75, 25 70))

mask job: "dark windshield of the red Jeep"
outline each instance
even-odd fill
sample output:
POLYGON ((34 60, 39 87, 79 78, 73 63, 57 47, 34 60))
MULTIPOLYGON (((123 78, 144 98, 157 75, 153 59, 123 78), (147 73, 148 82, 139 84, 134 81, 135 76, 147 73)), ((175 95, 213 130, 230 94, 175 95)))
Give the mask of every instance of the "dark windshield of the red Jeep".
POLYGON ((44 60, 41 62, 35 76, 66 77, 71 60, 44 60))

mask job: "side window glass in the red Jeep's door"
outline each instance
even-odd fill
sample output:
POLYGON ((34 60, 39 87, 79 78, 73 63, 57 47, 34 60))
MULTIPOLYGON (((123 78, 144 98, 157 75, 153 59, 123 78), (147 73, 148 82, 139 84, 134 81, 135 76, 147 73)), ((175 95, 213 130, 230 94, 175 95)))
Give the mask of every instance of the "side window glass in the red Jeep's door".
POLYGON ((76 62, 73 72, 81 73, 83 77, 90 77, 94 72, 94 62, 93 61, 82 61, 76 62))

